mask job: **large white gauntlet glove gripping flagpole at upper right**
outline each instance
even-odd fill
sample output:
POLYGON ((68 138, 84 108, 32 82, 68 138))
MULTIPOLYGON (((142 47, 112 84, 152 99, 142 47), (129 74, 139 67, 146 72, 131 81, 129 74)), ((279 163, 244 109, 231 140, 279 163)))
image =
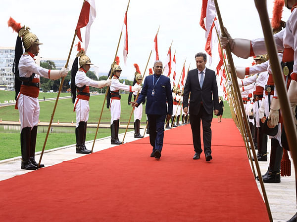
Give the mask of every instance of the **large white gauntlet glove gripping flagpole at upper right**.
POLYGON ((229 43, 230 49, 235 55, 247 59, 250 54, 250 40, 243 38, 233 39, 228 33, 227 29, 224 29, 227 37, 220 37, 222 47, 226 48, 227 43, 229 43))

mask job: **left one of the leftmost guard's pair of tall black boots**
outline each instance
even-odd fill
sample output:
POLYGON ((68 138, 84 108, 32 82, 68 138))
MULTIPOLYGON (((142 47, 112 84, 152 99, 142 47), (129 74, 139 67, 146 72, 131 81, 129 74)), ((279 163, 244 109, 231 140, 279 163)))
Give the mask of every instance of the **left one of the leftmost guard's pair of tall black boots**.
POLYGON ((21 132, 21 152, 22 152, 22 164, 21 169, 24 170, 36 170, 37 166, 33 165, 29 159, 30 153, 30 139, 31 139, 31 127, 25 127, 21 132))

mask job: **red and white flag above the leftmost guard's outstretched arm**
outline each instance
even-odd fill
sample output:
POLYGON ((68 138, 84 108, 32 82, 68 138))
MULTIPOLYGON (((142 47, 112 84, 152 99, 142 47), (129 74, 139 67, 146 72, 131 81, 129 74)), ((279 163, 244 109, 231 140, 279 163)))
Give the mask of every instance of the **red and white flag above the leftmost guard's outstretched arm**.
POLYGON ((80 29, 87 26, 86 37, 85 37, 85 51, 87 51, 88 49, 89 40, 90 40, 90 29, 95 18, 96 18, 95 0, 85 0, 75 28, 77 37, 79 38, 80 41, 83 41, 80 29))

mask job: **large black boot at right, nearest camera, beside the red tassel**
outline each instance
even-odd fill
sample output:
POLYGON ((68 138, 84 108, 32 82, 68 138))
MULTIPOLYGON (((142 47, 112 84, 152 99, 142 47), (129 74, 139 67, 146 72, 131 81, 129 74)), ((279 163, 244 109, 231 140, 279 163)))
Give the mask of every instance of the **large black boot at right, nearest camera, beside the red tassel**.
POLYGON ((271 139, 271 154, 269 161, 268 174, 263 177, 264 183, 281 183, 281 161, 283 148, 277 139, 271 139))

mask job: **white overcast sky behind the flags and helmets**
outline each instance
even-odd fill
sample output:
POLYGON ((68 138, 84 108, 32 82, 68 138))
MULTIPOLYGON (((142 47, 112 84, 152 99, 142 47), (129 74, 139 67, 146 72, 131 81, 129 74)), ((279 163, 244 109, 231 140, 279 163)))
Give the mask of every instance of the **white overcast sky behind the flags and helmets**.
MULTIPOLYGON (((123 61, 123 37, 118 56, 122 75, 134 78, 134 63, 144 72, 153 39, 158 34, 159 57, 165 61, 172 44, 172 57, 176 50, 177 74, 180 75, 187 58, 186 69, 196 68, 195 54, 204 51, 205 31, 199 26, 202 0, 131 0, 128 10, 129 54, 127 65, 123 61)), ((31 28, 44 44, 40 54, 44 58, 66 59, 70 50, 83 0, 10 0, 0 7, 0 47, 15 46, 16 33, 7 26, 9 16, 21 25, 31 28)), ((108 72, 113 61, 120 36, 128 0, 96 0, 97 17, 91 27, 87 51, 92 63, 100 72, 108 72)), ((232 37, 262 37, 259 16, 253 0, 218 0, 222 19, 232 37)), ((268 12, 272 14, 273 0, 267 0, 268 12)), ((283 20, 290 16, 284 8, 283 20)), ((84 40, 84 31, 82 30, 84 40)), ((76 37, 75 43, 78 42, 76 37)), ((82 44, 84 45, 84 43, 82 44)), ((71 58, 75 58, 76 49, 71 58)), ((237 66, 249 66, 252 59, 238 59, 237 66)), ((150 59, 149 68, 154 58, 150 59)), ((148 74, 148 70, 147 73, 148 74)))

